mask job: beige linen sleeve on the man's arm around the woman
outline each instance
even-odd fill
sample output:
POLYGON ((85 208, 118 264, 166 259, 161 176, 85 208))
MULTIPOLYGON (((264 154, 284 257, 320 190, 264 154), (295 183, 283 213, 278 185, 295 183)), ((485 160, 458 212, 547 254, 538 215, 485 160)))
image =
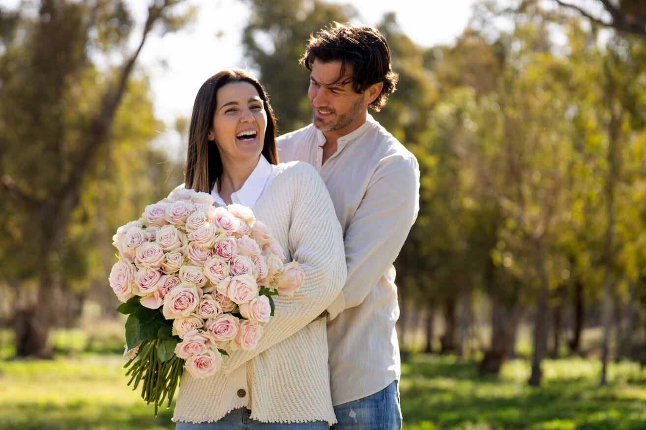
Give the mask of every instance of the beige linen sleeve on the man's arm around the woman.
POLYGON ((419 211, 419 164, 391 155, 373 173, 344 238, 348 279, 329 319, 359 306, 395 261, 419 211))

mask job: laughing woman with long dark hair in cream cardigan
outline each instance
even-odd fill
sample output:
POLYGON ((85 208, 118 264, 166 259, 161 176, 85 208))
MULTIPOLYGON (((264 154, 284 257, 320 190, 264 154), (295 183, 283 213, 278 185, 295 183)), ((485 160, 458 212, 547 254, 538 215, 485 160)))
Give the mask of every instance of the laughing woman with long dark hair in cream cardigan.
POLYGON ((292 297, 252 351, 230 351, 214 376, 185 372, 176 429, 328 429, 336 422, 328 375, 326 321, 317 316, 346 279, 342 231, 312 166, 278 164, 276 121, 263 86, 224 70, 200 88, 193 106, 185 186, 220 204, 243 204, 305 271, 292 297))

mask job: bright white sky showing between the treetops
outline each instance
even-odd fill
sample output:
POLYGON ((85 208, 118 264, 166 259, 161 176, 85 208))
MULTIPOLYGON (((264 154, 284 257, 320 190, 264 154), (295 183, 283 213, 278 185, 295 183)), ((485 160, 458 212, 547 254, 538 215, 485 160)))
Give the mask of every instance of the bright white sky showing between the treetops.
MULTIPOLYGON (((242 29, 249 17, 247 6, 232 0, 189 1, 199 6, 193 28, 151 40, 141 53, 141 64, 152 73, 156 112, 169 126, 174 118, 191 115, 195 94, 209 76, 229 66, 247 65, 240 46, 242 29)), ((421 10, 420 0, 351 3, 366 24, 379 23, 383 14, 392 12, 396 5, 394 12, 404 34, 421 46, 433 46, 455 41, 471 17, 475 0, 428 0, 426 10, 421 10), (433 12, 428 13, 429 9, 433 12)))

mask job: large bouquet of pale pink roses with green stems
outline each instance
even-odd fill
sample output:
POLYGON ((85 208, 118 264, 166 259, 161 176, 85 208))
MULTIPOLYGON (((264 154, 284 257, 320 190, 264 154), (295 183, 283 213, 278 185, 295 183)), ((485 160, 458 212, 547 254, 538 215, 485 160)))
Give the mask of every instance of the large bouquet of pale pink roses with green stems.
POLYGON ((304 273, 246 206, 213 206, 208 193, 176 189, 112 238, 110 286, 125 323, 128 385, 155 416, 186 368, 216 373, 223 355, 254 349, 273 315, 272 296, 293 295, 304 273))

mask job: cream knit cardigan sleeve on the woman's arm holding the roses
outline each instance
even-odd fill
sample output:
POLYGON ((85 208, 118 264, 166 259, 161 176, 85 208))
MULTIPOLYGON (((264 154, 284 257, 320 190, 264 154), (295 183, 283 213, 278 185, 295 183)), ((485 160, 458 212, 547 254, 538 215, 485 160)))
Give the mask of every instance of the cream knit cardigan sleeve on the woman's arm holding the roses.
POLYGON ((339 295, 346 280, 343 233, 332 200, 317 171, 302 165, 307 166, 301 168, 304 175, 290 180, 301 186, 288 239, 293 260, 305 272, 304 283, 293 296, 273 296, 275 313, 264 324, 258 345, 251 351, 231 351, 224 362, 227 373, 307 326, 339 295))

